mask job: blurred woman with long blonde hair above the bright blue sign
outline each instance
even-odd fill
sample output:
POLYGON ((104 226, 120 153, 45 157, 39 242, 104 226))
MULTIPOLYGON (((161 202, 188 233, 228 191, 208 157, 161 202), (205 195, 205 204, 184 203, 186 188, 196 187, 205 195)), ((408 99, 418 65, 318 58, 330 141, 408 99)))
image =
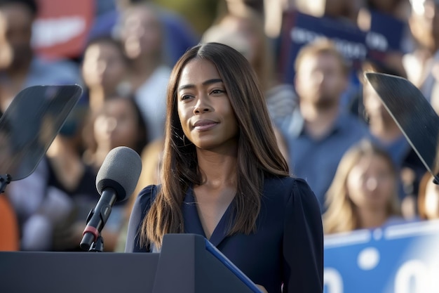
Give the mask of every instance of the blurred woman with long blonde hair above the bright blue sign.
POLYGON ((368 140, 342 157, 326 194, 325 234, 376 228, 400 218, 397 171, 389 154, 368 140))

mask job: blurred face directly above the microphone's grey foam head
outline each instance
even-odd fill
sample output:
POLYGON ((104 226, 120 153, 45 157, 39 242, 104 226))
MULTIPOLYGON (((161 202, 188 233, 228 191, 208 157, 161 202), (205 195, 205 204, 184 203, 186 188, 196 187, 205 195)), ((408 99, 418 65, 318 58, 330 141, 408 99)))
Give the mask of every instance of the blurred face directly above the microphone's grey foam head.
POLYGON ((127 146, 136 148, 140 137, 137 113, 124 98, 107 100, 94 123, 97 145, 109 148, 127 146))

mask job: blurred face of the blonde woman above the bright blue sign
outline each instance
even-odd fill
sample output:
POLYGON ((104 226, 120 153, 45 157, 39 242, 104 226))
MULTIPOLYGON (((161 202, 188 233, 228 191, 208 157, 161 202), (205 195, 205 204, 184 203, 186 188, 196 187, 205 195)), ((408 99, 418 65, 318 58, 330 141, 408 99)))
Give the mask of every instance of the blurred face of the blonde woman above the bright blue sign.
POLYGON ((379 155, 362 157, 349 172, 346 188, 360 209, 385 209, 396 193, 396 178, 389 162, 379 155))

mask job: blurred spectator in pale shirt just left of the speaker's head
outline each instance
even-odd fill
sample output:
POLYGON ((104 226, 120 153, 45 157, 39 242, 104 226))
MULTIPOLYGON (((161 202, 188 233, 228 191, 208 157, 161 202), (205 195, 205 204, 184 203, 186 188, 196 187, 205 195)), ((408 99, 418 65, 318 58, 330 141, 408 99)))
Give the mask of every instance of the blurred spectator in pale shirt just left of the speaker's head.
POLYGON ((144 121, 148 140, 163 137, 166 85, 170 68, 163 53, 163 23, 151 4, 128 6, 119 25, 123 48, 130 60, 125 88, 134 97, 144 121))

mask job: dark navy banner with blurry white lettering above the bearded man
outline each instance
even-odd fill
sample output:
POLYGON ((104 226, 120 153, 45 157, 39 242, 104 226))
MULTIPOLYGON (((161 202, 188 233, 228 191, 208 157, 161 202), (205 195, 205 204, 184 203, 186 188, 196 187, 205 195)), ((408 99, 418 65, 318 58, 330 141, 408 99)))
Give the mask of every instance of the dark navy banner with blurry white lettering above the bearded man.
POLYGON ((389 51, 401 51, 405 24, 390 15, 377 12, 372 12, 370 17, 370 31, 364 32, 347 20, 316 18, 298 11, 285 13, 279 60, 283 82, 293 83, 297 53, 302 46, 320 37, 335 42, 342 55, 351 62, 355 75, 366 57, 381 60, 389 51))

